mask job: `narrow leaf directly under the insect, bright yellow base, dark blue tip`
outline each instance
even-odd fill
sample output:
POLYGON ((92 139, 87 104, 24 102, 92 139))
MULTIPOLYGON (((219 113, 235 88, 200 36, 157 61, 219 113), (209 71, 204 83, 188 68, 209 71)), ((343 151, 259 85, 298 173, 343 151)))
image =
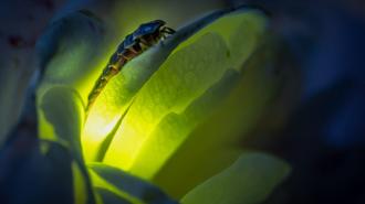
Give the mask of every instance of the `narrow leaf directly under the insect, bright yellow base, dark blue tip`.
POLYGON ((104 151, 101 143, 106 140, 106 136, 113 135, 115 126, 128 109, 133 98, 166 61, 171 51, 194 33, 227 12, 212 12, 179 29, 167 41, 150 47, 140 56, 128 62, 121 73, 111 79, 88 111, 84 132, 82 133, 86 161, 97 161, 101 152, 104 151))

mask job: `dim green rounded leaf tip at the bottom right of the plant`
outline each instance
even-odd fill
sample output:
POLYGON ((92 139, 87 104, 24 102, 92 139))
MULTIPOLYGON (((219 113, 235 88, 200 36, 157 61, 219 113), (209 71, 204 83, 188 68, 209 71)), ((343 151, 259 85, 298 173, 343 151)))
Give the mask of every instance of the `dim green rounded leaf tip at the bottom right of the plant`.
POLYGON ((230 168, 199 184, 182 204, 258 204, 289 174, 289 165, 271 155, 244 153, 230 168))

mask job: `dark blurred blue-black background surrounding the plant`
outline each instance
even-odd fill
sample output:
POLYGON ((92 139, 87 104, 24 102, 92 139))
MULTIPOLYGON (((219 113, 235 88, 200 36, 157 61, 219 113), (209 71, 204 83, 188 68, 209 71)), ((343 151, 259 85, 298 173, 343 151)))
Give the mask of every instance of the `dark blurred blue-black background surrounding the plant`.
MULTIPOLYGON (((289 118, 280 128, 272 125, 269 133, 258 127, 254 137, 242 141, 244 148, 271 152, 293 168, 267 203, 365 203, 365 2, 361 0, 2 0, 0 138, 9 135, 7 127, 15 126, 22 136, 19 148, 27 149, 35 136, 32 117, 20 125, 18 119, 24 115, 22 107, 31 111, 24 99, 34 85, 34 45, 52 20, 87 9, 117 23, 156 11, 177 26, 211 10, 244 3, 269 13, 301 73, 300 101, 289 118), (131 18, 115 18, 127 11, 131 18)), ((269 118, 280 118, 274 114, 269 118)))

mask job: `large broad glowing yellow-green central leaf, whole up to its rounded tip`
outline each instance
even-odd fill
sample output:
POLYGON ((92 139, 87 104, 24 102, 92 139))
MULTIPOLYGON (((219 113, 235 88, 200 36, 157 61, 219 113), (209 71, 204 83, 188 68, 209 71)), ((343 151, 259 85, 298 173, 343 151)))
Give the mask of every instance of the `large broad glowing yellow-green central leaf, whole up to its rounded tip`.
POLYGON ((134 98, 104 162, 129 170, 140 148, 165 116, 184 111, 228 69, 241 68, 238 62, 242 64, 261 43, 265 24, 265 17, 260 11, 236 11, 219 18, 179 44, 134 98), (237 36, 236 33, 241 34, 240 41, 231 40, 237 36), (246 36, 252 42, 246 43, 246 36), (236 42, 240 47, 233 49, 234 52, 246 54, 240 57, 232 55, 230 42, 236 42))

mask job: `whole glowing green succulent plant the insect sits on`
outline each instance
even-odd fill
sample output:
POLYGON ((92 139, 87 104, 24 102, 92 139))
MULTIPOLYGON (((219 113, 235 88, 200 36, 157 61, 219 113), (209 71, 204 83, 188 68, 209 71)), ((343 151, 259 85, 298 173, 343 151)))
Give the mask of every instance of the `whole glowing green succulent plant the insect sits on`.
POLYGON ((290 54, 270 18, 240 7, 178 28, 127 63, 86 114, 87 95, 117 46, 115 36, 125 33, 79 11, 55 20, 38 41, 39 140, 22 157, 30 162, 24 175, 42 179, 32 193, 19 184, 24 197, 9 201, 264 201, 290 167, 241 142, 278 103, 293 100, 283 94, 296 77, 294 65, 282 61, 290 54), (51 197, 55 192, 62 193, 51 197))

